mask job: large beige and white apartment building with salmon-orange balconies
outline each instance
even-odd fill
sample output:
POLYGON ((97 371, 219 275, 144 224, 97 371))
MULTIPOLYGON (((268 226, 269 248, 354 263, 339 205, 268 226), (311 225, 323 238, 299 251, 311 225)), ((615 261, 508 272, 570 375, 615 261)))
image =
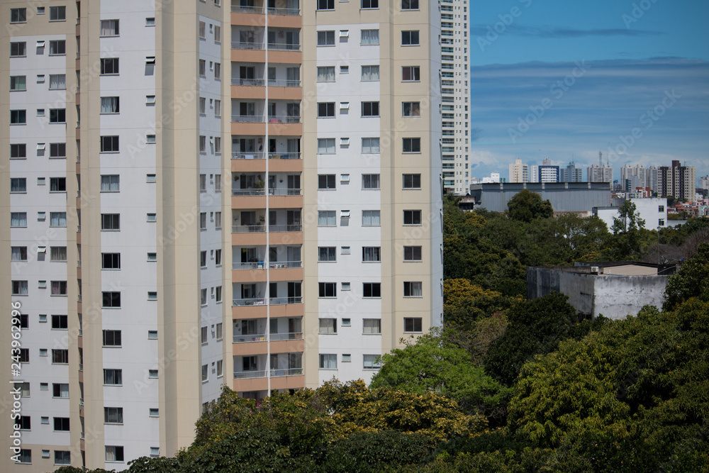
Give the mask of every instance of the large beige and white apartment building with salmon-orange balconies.
POLYGON ((438 4, 50 0, 1 18, 21 343, 1 373, 21 445, 0 471, 174 455, 223 384, 369 381, 442 323, 438 4))

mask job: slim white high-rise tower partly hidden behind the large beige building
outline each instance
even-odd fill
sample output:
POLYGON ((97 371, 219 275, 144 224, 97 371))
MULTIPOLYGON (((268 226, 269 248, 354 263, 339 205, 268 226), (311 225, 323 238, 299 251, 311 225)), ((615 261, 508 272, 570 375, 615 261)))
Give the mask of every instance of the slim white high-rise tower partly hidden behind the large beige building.
MULTIPOLYGON (((403 1, 418 5, 420 0, 403 1)), ((443 186, 465 195, 471 179, 468 2, 442 0, 440 11, 443 186)))

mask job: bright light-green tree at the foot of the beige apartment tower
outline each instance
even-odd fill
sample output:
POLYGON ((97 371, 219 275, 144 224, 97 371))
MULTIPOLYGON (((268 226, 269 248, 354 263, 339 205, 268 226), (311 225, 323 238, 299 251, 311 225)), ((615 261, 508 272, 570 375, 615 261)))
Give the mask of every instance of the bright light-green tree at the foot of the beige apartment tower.
POLYGON ((434 329, 416 343, 391 350, 372 378, 372 389, 435 393, 457 401, 463 411, 500 416, 509 389, 471 362, 469 353, 434 329))

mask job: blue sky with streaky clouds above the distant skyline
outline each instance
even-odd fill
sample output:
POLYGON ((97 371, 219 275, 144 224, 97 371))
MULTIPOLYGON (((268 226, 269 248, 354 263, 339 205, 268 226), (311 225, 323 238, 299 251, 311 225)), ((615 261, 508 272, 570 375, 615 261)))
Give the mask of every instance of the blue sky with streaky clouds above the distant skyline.
MULTIPOLYGON (((520 157, 709 174, 709 1, 476 0, 471 175, 520 157)), ((584 172, 586 179, 586 172, 584 172)))

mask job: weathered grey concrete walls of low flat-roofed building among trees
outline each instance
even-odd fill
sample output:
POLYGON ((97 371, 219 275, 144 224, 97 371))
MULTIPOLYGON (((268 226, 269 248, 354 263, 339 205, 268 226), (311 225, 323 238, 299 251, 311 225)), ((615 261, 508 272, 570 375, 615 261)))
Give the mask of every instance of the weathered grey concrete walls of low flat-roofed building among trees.
POLYGON ((527 299, 557 291, 569 296, 576 311, 618 320, 635 316, 643 306, 661 307, 666 276, 596 275, 552 268, 527 268, 527 299))

